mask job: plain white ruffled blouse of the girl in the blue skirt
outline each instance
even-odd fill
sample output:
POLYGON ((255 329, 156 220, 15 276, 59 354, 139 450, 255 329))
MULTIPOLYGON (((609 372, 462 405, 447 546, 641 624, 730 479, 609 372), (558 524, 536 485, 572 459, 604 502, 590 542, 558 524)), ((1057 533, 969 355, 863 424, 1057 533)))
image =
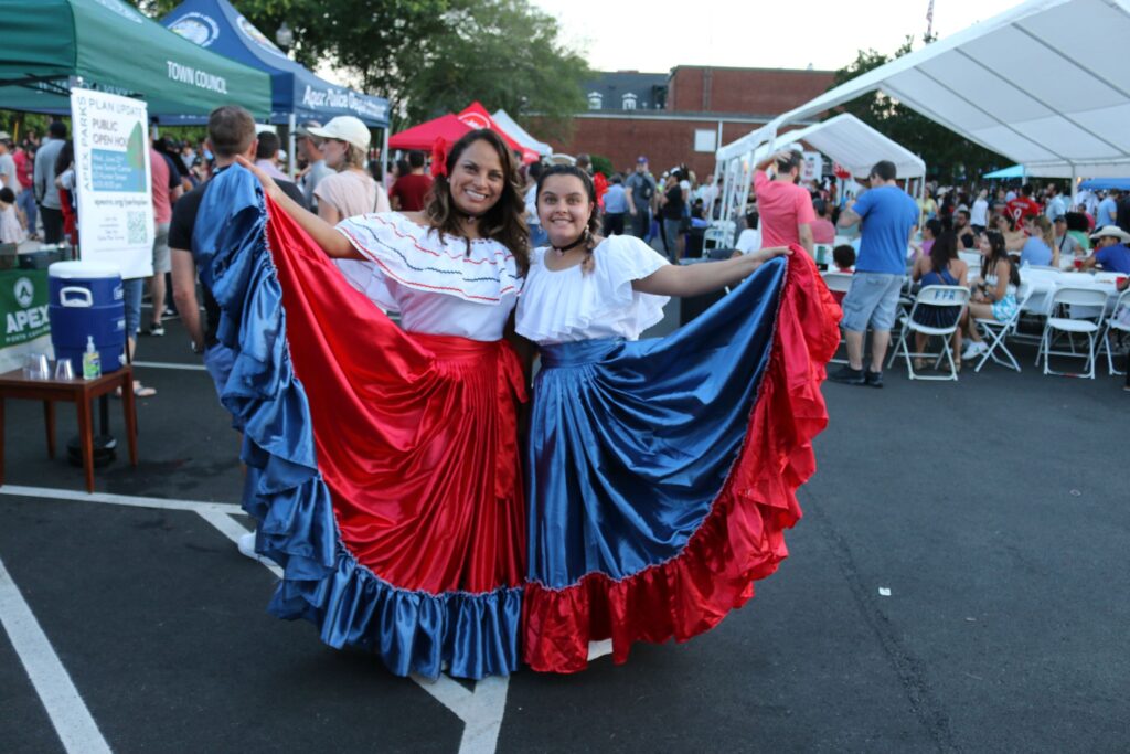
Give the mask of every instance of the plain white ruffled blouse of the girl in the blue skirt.
POLYGON ((640 293, 633 280, 647 277, 669 262, 633 236, 606 239, 592 250, 594 269, 580 265, 550 270, 548 248, 530 254, 530 271, 518 303, 519 335, 539 344, 593 338, 636 340, 663 319, 670 298, 640 293))

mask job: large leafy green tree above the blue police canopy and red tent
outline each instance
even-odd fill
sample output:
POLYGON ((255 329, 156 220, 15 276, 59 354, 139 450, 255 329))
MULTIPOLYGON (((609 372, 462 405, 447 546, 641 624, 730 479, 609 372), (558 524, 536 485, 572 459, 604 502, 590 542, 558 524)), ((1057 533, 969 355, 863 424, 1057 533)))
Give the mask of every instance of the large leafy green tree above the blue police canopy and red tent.
MULTIPOLYGON (((133 2, 153 16, 176 6, 133 2)), ((240 12, 269 37, 286 21, 298 62, 386 97, 394 127, 473 99, 520 121, 537 112, 555 130, 584 110, 591 71, 529 0, 243 0, 240 12)))

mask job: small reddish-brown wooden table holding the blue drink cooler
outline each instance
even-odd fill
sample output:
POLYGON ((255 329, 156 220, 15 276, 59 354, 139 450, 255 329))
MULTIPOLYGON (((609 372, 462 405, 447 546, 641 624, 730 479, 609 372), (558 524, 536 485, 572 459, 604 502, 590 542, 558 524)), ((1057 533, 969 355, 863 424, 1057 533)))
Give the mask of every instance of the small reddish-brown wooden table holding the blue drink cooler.
POLYGON ((122 410, 125 414, 125 436, 130 447, 130 463, 138 465, 137 405, 133 400, 133 367, 123 366, 97 380, 29 380, 23 370, 0 374, 0 485, 3 484, 3 418, 5 400, 23 398, 43 401, 43 418, 47 427, 47 458, 55 457, 55 401, 75 404, 78 410, 78 434, 82 442, 82 469, 86 471, 86 491, 94 492, 94 414, 90 401, 122 389, 122 410))

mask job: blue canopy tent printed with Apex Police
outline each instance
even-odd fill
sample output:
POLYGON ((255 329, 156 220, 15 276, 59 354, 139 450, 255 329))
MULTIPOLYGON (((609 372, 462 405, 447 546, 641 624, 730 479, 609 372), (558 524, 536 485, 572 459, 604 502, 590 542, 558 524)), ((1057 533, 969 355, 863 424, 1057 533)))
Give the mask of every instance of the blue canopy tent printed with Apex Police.
POLYGON ((354 115, 371 128, 384 129, 388 144, 388 99, 339 87, 315 76, 287 58, 228 0, 185 0, 160 23, 201 47, 270 75, 270 122, 289 127, 292 155, 299 121, 324 123, 337 115, 354 115))

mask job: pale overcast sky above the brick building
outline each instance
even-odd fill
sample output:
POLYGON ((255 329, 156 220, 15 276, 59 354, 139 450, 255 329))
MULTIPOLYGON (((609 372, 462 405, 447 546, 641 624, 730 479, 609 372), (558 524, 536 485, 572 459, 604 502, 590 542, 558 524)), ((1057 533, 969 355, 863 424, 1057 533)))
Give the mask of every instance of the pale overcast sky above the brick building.
MULTIPOLYGON (((929 0, 532 0, 594 70, 666 72, 675 66, 835 70, 861 49, 893 52, 907 34, 921 46, 929 0), (781 7, 788 11, 781 10, 781 7)), ((1019 0, 936 0, 940 36, 1019 0)))

